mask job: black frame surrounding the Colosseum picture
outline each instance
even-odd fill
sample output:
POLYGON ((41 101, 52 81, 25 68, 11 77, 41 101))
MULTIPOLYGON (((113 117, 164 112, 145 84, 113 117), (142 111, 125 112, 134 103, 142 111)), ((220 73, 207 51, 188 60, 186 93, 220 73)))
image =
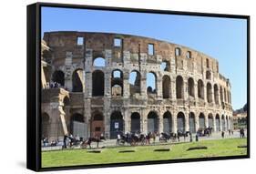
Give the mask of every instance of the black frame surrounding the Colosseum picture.
POLYGON ((198 12, 179 12, 167 10, 153 9, 138 9, 138 8, 123 8, 109 6, 94 6, 94 5, 67 5, 67 4, 51 4, 51 3, 36 3, 27 5, 27 118, 26 118, 26 167, 35 171, 48 171, 60 169, 91 169, 91 168, 106 168, 118 166, 134 166, 134 165, 151 165, 162 163, 176 162, 192 162, 220 159, 247 159, 250 158, 250 16, 249 15, 227 15, 227 14, 210 14, 198 12), (93 9, 93 10, 108 10, 121 12, 138 12, 151 14, 167 14, 167 15, 191 15, 191 16, 212 16, 225 18, 238 18, 247 20, 247 155, 231 156, 231 157, 215 157, 204 159, 169 159, 156 160, 146 162, 129 162, 118 164, 97 164, 97 165, 82 165, 82 166, 67 166, 42 168, 41 167, 41 8, 42 7, 61 7, 61 8, 76 8, 76 9, 93 9))

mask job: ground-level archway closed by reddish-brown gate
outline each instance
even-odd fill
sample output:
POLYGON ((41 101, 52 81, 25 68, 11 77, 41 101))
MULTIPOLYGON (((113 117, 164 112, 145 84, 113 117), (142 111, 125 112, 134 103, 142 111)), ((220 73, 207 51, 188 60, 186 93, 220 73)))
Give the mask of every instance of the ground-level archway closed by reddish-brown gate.
POLYGON ((101 112, 92 114, 91 118, 91 137, 100 137, 104 134, 104 116, 101 112))

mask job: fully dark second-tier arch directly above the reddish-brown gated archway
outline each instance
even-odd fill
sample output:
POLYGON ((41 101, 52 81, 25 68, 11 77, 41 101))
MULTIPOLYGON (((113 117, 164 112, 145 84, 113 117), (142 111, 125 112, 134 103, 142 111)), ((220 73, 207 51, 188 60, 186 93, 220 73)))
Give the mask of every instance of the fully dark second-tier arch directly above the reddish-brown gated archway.
POLYGON ((104 73, 96 70, 92 73, 92 96, 104 96, 104 73))

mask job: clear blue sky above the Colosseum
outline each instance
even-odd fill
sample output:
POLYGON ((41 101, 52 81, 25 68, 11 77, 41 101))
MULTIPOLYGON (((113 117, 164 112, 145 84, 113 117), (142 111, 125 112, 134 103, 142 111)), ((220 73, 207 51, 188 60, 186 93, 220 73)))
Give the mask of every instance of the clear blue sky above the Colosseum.
POLYGON ((234 109, 247 102, 245 19, 43 7, 42 36, 60 30, 148 36, 189 46, 218 59, 220 74, 230 78, 234 109))

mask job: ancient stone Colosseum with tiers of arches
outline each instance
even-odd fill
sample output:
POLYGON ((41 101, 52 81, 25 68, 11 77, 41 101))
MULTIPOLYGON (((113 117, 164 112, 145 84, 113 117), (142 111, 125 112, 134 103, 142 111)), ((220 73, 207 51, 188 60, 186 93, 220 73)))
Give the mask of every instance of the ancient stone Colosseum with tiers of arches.
POLYGON ((46 32, 41 82, 49 139, 232 128, 230 81, 218 61, 154 38, 46 32))

